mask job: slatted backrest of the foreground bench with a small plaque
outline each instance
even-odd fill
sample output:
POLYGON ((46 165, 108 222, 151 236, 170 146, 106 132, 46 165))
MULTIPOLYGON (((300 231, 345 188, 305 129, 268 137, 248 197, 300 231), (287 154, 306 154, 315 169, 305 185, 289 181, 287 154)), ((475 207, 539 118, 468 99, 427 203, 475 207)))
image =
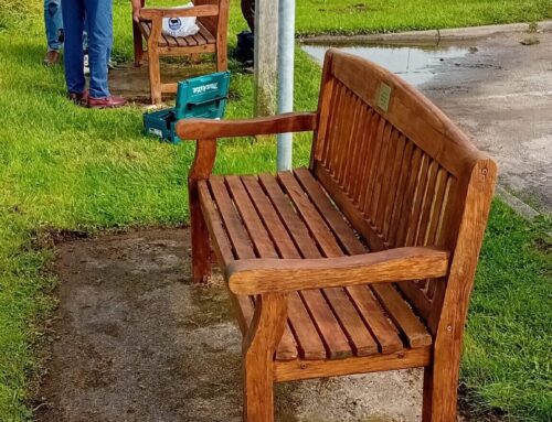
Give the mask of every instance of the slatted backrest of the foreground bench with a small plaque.
POLYGON ((326 56, 318 112, 310 165, 321 184, 372 250, 446 246, 447 280, 400 288, 434 332, 447 301, 465 316, 493 162, 416 89, 339 51, 326 56))

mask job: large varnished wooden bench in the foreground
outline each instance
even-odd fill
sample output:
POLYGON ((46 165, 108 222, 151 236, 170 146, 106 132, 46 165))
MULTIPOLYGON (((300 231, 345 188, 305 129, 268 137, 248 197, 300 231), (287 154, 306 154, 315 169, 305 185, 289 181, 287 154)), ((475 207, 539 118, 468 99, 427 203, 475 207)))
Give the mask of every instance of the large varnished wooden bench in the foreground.
POLYGON ((468 300, 497 169, 414 88, 326 55, 318 111, 187 120, 193 280, 214 249, 243 332, 244 420, 273 383, 424 367, 423 421, 455 421, 468 300), (308 169, 212 175, 216 139, 314 131, 308 169))

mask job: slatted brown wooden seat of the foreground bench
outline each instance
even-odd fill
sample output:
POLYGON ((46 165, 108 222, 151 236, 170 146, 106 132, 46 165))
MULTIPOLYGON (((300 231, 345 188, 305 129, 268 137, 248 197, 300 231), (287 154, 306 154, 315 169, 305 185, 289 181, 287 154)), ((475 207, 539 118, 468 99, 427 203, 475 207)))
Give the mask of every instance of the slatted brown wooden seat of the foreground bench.
MULTIPOLYGON (((369 253, 308 169, 276 176, 211 175, 199 198, 219 261, 316 259, 369 253)), ((233 293, 230 293, 233 295, 233 293)), ((255 297, 234 296, 243 333, 255 297)), ((432 336, 393 283, 294 292, 276 361, 367 357, 418 350, 432 336)))

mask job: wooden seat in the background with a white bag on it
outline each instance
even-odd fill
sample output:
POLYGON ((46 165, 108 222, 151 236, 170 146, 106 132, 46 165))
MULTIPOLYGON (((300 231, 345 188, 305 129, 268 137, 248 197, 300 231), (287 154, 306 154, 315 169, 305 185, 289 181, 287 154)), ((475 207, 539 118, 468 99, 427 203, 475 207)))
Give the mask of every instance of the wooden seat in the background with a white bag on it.
MULTIPOLYGON (((142 0, 142 8, 145 0, 142 0)), ((201 53, 216 54, 216 71, 227 69, 229 0, 194 0, 189 9, 141 9, 140 22, 132 21, 135 66, 146 53, 149 66, 151 102, 160 104, 162 93, 176 93, 177 84, 161 84, 160 56, 190 55, 193 59, 201 53), (197 17, 200 31, 185 37, 167 36, 161 33, 163 18, 197 17), (142 37, 147 42, 144 50, 142 37)))

